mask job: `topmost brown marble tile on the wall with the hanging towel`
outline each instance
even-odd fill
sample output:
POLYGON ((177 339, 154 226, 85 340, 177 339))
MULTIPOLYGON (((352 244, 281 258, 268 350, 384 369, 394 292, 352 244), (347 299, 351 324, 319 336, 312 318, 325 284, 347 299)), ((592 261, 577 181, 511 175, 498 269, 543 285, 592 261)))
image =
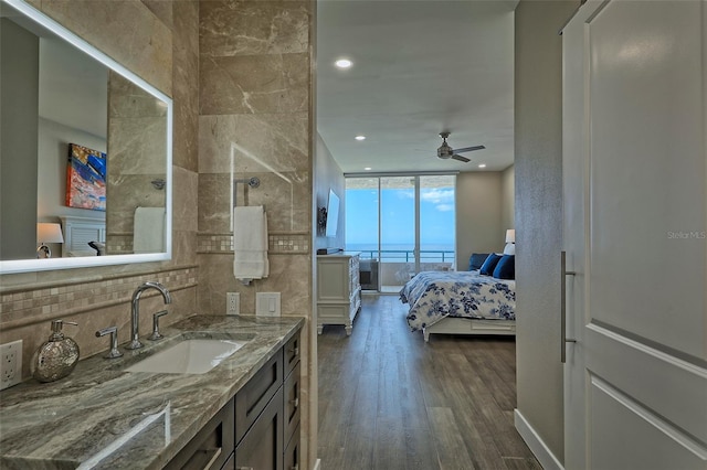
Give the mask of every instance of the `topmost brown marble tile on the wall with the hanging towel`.
POLYGON ((212 57, 307 52, 308 2, 204 1, 202 53, 212 57))

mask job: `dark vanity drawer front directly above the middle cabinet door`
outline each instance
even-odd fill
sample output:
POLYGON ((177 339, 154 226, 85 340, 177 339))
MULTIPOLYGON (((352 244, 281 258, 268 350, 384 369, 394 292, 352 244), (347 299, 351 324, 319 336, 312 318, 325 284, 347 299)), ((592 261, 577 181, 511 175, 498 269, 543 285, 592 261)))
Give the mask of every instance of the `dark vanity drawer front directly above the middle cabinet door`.
POLYGON ((278 351, 235 395, 236 442, 241 441, 282 383, 283 354, 278 351))

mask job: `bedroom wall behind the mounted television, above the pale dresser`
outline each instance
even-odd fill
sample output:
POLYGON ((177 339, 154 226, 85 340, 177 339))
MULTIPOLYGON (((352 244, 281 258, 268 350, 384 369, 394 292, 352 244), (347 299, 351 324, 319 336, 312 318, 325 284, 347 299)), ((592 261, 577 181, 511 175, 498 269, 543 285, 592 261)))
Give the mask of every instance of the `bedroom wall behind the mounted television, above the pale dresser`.
POLYGON ((317 132, 317 147, 314 159, 314 200, 317 209, 327 206, 329 189, 334 190, 340 200, 336 238, 326 237, 317 231, 314 247, 315 253, 319 248, 344 248, 346 242, 346 181, 344 179, 344 172, 334 160, 334 157, 331 157, 331 152, 321 139, 321 136, 317 132))

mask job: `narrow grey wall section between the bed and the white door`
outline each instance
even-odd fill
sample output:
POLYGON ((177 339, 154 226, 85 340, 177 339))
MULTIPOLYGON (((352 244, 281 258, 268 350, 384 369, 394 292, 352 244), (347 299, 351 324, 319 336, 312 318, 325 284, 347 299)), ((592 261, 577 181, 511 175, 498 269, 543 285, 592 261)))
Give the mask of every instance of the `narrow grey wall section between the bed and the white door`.
POLYGON ((515 29, 517 410, 560 462, 564 429, 559 325, 562 42, 558 30, 578 6, 577 1, 521 0, 515 29))

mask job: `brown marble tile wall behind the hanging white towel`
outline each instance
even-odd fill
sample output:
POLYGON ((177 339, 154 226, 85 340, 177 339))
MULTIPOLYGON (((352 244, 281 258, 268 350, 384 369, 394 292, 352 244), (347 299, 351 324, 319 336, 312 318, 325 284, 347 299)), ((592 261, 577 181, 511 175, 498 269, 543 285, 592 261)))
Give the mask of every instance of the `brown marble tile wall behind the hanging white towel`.
POLYGON ((316 335, 313 334, 314 2, 203 0, 199 18, 199 307, 221 313, 225 293, 282 295, 282 314, 309 319, 303 331, 300 429, 304 461, 316 457, 316 335), (270 276, 243 286, 233 276, 232 180, 236 204, 267 213, 270 276), (312 351, 312 353, 310 353, 312 351))

